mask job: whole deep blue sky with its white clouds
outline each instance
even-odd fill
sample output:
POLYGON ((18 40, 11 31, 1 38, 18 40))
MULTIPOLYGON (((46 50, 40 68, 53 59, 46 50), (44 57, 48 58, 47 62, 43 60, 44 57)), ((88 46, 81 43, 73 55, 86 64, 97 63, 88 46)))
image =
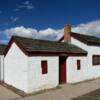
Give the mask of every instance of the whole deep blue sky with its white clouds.
POLYGON ((0 0, 0 43, 12 35, 57 40, 65 24, 100 37, 100 0, 0 0))

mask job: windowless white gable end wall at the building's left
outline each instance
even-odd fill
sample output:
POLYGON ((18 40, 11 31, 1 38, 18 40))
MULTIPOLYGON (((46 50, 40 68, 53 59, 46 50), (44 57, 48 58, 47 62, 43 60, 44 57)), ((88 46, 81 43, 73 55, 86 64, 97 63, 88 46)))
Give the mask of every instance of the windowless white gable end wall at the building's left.
POLYGON ((4 64, 4 81, 23 91, 27 91, 27 59, 27 56, 13 43, 4 64))

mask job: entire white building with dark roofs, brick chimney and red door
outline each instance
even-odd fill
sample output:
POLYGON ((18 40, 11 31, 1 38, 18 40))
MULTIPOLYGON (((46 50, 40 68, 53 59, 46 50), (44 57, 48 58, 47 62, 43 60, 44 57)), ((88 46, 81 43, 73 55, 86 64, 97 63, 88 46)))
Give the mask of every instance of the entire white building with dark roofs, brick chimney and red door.
POLYGON ((69 25, 55 42, 13 36, 4 54, 4 82, 26 93, 100 77, 100 39, 69 25))

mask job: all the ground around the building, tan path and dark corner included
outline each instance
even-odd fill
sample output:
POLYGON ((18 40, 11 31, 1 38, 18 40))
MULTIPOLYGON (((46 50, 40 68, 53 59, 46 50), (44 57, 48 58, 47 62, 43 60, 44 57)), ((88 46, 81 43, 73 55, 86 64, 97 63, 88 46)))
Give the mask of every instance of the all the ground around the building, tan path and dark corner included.
POLYGON ((100 100, 100 79, 78 84, 65 84, 60 87, 61 88, 59 89, 39 92, 31 96, 22 97, 0 85, 0 100, 71 100, 72 98, 75 98, 72 100, 100 100))

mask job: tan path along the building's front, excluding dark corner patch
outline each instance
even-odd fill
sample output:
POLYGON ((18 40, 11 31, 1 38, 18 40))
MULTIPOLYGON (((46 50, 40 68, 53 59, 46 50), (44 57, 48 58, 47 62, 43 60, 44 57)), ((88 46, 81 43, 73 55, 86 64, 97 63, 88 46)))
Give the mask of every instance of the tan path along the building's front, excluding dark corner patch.
POLYGON ((32 95, 25 98, 20 98, 18 100, 71 100, 72 98, 82 96, 98 88, 100 88, 100 79, 93 81, 86 81, 73 85, 65 84, 61 86, 61 89, 47 91, 45 93, 32 95))

